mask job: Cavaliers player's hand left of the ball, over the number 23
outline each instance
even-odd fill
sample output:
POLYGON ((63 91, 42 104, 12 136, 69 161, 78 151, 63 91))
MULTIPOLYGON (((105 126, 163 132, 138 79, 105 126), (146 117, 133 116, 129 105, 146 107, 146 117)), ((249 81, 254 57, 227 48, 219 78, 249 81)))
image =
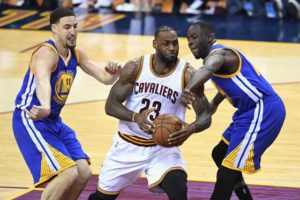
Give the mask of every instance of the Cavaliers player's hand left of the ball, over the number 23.
POLYGON ((148 115, 153 112, 155 108, 150 108, 148 110, 143 111, 142 113, 138 113, 135 116, 136 123, 139 125, 140 129, 145 133, 152 134, 153 133, 153 124, 148 120, 148 115))

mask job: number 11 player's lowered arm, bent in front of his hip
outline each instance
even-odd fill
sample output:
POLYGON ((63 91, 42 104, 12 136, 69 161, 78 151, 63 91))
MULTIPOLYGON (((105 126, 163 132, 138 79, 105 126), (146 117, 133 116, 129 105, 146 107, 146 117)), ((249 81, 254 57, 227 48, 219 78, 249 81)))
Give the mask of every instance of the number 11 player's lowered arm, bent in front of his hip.
POLYGON ((57 53, 48 46, 40 47, 33 55, 30 69, 36 79, 36 95, 41 105, 34 105, 26 110, 29 119, 38 120, 47 117, 51 112, 50 77, 58 61, 57 53))

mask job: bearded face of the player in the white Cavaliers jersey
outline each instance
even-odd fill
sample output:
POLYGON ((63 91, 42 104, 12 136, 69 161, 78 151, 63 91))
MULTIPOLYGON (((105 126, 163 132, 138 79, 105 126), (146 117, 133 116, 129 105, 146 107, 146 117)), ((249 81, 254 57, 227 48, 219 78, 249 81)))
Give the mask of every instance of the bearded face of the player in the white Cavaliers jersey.
POLYGON ((160 32, 154 40, 156 54, 166 62, 176 62, 179 51, 178 38, 175 31, 160 32))

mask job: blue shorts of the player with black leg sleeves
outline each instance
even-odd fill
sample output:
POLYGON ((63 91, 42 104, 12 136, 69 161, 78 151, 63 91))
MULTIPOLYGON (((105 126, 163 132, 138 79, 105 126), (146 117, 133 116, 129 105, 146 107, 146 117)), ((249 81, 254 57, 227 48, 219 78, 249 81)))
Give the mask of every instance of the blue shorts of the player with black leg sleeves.
POLYGON ((261 156, 278 136, 285 114, 279 97, 261 99, 247 112, 237 111, 223 133, 228 149, 222 165, 246 173, 259 170, 261 156))

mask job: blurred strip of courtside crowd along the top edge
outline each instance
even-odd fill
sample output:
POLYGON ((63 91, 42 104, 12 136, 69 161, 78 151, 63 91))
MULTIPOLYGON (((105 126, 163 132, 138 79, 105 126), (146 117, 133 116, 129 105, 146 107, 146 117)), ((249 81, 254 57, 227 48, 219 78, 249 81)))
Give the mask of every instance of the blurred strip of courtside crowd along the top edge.
POLYGON ((54 9, 79 7, 89 11, 109 8, 122 12, 178 12, 230 14, 300 20, 300 0, 0 0, 2 4, 54 9))

